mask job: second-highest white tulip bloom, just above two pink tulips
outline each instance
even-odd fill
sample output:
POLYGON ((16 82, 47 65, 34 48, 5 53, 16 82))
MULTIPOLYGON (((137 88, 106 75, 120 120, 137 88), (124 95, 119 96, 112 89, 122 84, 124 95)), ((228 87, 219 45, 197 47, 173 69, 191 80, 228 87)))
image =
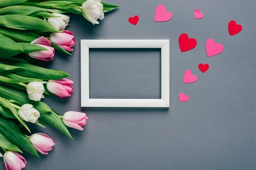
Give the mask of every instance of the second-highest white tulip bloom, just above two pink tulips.
POLYGON ((59 30, 64 30, 66 26, 68 25, 69 22, 69 15, 64 15, 64 14, 58 14, 58 13, 53 13, 55 16, 58 17, 49 17, 48 18, 48 23, 50 23, 52 26, 59 30))

